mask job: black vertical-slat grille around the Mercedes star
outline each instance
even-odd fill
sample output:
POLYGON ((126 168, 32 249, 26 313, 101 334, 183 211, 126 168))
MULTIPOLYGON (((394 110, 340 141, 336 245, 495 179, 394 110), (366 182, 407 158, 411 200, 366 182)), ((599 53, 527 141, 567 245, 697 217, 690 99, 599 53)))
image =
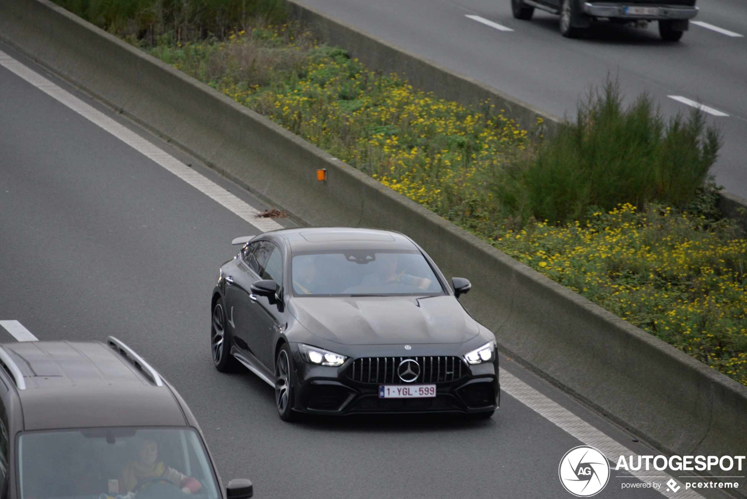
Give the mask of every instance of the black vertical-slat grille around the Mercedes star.
POLYGON ((347 370, 347 376, 363 383, 403 383, 397 376, 397 368, 405 359, 413 359, 420 365, 420 375, 414 382, 436 383, 453 381, 467 374, 462 359, 445 357, 368 357, 355 359, 347 370))

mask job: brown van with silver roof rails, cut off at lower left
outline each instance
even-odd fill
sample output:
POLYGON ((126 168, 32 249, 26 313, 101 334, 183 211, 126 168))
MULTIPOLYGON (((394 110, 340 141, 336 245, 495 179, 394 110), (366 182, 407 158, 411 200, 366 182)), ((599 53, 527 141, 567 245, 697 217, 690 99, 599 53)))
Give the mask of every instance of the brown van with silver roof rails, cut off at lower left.
POLYGON ((192 412, 117 338, 0 345, 0 497, 244 499, 192 412))

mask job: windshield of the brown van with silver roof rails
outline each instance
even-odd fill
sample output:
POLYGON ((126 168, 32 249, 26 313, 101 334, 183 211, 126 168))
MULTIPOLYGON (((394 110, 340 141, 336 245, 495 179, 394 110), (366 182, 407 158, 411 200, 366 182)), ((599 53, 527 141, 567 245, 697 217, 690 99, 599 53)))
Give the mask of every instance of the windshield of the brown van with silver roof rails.
POLYGON ((22 433, 23 498, 217 499, 202 441, 190 428, 95 428, 22 433))

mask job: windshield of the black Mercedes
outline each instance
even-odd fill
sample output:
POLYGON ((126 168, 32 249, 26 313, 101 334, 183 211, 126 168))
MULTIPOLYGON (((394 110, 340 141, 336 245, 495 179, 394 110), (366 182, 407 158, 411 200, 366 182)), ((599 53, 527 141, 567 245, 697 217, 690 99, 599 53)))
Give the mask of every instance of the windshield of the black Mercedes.
POLYGON ((443 289, 421 253, 355 249, 293 256, 297 296, 441 294, 443 289))

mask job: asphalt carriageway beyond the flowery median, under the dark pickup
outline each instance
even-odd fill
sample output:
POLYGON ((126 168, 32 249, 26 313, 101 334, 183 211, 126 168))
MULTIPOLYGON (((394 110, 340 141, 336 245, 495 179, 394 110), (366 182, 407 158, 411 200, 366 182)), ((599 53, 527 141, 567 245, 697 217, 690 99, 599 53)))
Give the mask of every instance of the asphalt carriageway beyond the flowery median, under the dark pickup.
MULTIPOLYGON (((579 98, 607 75, 632 99, 642 92, 673 116, 691 108, 669 96, 728 114, 709 115, 724 147, 712 172, 727 190, 747 198, 747 4, 698 0, 695 21, 679 43, 646 29, 599 23, 580 40, 560 36, 558 16, 535 10, 514 19, 510 0, 303 0, 404 49, 483 81, 552 114, 574 116, 579 98), (470 19, 479 16, 513 31, 470 19)), ((665 2, 666 3, 666 2, 665 2)))

